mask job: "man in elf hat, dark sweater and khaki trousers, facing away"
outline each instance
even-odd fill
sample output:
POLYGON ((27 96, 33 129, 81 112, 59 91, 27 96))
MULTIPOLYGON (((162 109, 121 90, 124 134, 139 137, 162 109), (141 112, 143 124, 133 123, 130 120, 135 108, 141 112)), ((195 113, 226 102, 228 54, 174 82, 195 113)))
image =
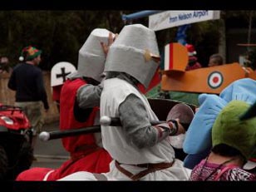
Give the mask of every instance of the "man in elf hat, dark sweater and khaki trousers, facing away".
POLYGON ((15 106, 22 107, 33 131, 32 148, 36 135, 42 131, 44 123, 42 104, 47 112, 49 109, 47 92, 43 83, 42 70, 38 67, 41 62, 41 50, 28 46, 22 49, 20 61, 24 61, 13 68, 8 87, 16 91, 15 106))

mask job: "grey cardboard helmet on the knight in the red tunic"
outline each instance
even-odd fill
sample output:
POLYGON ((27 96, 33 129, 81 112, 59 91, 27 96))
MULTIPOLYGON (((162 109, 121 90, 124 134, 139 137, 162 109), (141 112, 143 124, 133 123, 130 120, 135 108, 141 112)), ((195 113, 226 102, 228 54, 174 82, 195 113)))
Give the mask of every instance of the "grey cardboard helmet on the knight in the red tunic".
MULTIPOLYGON (((108 43, 110 31, 103 28, 94 29, 79 50, 77 73, 101 82, 106 56, 101 42, 108 43)), ((113 34, 114 35, 114 34, 113 34)))

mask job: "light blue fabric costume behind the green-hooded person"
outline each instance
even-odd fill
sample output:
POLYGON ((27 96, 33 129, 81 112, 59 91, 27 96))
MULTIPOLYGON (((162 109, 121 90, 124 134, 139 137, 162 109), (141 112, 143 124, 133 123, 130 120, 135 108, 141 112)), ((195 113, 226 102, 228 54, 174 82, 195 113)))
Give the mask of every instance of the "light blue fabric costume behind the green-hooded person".
POLYGON ((194 115, 183 145, 185 153, 188 154, 184 160, 185 167, 192 170, 209 155, 212 149, 211 130, 219 111, 233 100, 254 103, 256 101, 255 91, 256 81, 243 78, 227 86, 219 96, 199 95, 199 110, 194 115))

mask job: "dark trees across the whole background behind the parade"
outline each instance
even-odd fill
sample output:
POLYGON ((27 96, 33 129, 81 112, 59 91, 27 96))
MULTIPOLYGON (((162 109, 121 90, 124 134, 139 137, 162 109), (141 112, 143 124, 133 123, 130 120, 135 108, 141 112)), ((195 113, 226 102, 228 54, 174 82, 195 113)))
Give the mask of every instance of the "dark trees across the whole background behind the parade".
MULTIPOLYGON (((0 57, 7 56, 11 66, 17 64, 22 47, 32 45, 42 50, 43 70, 51 70, 57 62, 71 62, 76 66, 78 51, 91 31, 106 27, 118 33, 125 23, 121 14, 140 10, 90 10, 90 11, 0 11, 0 57)), ((224 20, 256 16, 256 11, 222 11, 224 20)), ((148 17, 135 19, 132 23, 148 25, 148 17)), ((194 44, 199 62, 205 66, 211 54, 218 52, 219 20, 198 22, 187 30, 187 42, 194 44)), ((156 32, 160 52, 169 42, 176 42, 178 27, 156 32)))

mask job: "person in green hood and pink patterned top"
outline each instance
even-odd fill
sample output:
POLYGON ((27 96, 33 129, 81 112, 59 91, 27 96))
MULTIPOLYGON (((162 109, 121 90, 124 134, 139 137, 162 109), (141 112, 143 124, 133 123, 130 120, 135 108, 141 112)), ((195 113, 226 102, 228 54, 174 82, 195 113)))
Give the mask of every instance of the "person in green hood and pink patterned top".
POLYGON ((248 109, 244 101, 230 101, 219 112, 212 129, 213 148, 194 167, 190 180, 256 180, 243 169, 256 145, 256 119, 239 120, 248 109))

